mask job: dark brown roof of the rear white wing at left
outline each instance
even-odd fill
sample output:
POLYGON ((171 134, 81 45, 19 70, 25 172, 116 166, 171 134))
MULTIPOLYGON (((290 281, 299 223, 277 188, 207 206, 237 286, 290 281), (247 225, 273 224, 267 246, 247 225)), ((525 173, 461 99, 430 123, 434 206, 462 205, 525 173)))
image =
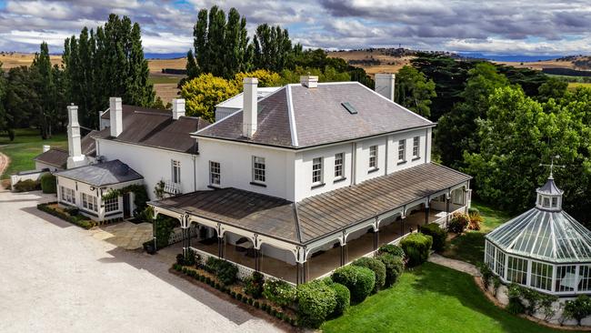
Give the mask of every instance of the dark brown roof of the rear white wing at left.
POLYGON ((182 153, 195 153, 196 141, 190 134, 208 125, 207 121, 193 116, 181 116, 173 120, 169 110, 125 106, 123 132, 117 137, 111 137, 111 129, 107 127, 96 133, 95 137, 182 153))

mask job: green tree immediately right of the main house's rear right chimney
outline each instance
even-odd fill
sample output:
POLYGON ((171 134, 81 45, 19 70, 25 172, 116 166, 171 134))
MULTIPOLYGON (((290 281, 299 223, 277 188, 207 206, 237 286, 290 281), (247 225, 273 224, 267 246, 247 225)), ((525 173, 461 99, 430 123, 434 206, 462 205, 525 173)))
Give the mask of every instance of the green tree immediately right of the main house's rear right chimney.
POLYGON ((436 97, 435 82, 413 66, 403 66, 396 75, 395 101, 421 116, 431 115, 431 98, 436 97))

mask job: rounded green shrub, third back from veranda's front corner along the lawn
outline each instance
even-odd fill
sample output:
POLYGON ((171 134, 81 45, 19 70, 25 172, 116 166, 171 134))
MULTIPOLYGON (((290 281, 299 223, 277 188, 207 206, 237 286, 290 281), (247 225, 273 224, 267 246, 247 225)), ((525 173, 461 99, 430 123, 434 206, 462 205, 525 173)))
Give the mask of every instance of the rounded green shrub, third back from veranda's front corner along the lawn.
POLYGON ((351 301, 354 303, 360 303, 366 299, 376 284, 374 271, 354 265, 337 268, 331 278, 349 289, 351 301))

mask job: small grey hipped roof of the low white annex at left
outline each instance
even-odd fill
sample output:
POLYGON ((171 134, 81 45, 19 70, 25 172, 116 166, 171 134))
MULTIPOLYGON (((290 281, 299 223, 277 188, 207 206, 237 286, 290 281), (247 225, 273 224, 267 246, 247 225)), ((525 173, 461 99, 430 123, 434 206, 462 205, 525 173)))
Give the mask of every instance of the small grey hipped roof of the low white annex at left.
POLYGON ((70 178, 94 187, 105 187, 144 178, 118 159, 59 171, 55 176, 70 178))

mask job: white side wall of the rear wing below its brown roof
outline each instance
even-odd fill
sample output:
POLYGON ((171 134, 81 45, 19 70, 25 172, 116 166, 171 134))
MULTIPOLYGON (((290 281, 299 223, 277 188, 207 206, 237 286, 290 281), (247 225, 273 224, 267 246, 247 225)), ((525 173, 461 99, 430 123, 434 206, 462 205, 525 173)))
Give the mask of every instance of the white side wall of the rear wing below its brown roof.
MULTIPOLYGON (((96 140, 96 155, 106 161, 119 159, 144 176, 145 189, 154 200, 154 187, 160 180, 172 179, 172 160, 181 162, 181 189, 183 193, 195 191, 194 155, 149 146, 130 145, 113 140, 96 140)), ((195 156, 195 168, 199 157, 195 156)), ((197 188, 198 189, 198 188, 197 188)))

